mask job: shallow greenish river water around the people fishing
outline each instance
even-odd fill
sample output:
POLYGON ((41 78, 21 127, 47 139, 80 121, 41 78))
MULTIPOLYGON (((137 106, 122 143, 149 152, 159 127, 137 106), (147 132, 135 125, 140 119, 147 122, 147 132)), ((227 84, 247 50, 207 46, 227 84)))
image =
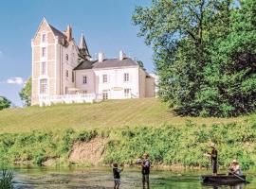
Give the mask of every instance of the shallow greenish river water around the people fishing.
MULTIPOLYGON (((111 189, 113 188, 112 169, 109 167, 91 168, 15 168, 14 185, 17 189, 111 189)), ((249 174, 250 184, 237 186, 206 186, 200 180, 201 174, 208 171, 152 171, 151 189, 256 189, 256 175, 249 174), (255 179, 254 179, 255 178, 255 179)), ((248 174, 248 173, 247 173, 248 174)), ((141 186, 141 174, 138 168, 125 168, 121 173, 120 189, 137 189, 141 186)))

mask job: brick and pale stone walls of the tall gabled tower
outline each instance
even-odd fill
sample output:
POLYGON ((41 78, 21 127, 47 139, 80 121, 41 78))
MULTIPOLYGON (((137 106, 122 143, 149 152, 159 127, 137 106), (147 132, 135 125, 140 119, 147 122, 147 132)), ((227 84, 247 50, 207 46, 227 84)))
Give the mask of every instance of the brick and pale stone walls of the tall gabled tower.
POLYGON ((75 76, 72 80, 73 69, 78 65, 78 48, 74 40, 68 46, 61 44, 58 36, 54 36, 51 28, 43 20, 31 41, 32 48, 32 105, 39 103, 40 79, 47 79, 47 93, 44 95, 65 94, 65 87, 75 87, 75 76), (42 35, 46 34, 46 43, 42 35), (42 48, 46 47, 46 57, 43 58, 42 48), (68 55, 68 60, 65 56, 68 55), (46 75, 40 73, 41 62, 46 62, 46 75), (68 70, 68 77, 65 76, 68 70))

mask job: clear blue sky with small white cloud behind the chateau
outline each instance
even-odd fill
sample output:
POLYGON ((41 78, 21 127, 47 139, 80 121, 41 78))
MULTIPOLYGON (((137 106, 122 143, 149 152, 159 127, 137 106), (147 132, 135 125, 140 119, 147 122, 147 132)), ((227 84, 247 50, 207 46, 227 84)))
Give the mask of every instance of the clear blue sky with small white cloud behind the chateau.
POLYGON ((73 28, 77 43, 85 36, 93 58, 104 52, 116 58, 119 50, 142 60, 154 72, 153 50, 137 37, 131 17, 136 6, 148 7, 150 0, 1 0, 0 5, 0 95, 22 106, 19 92, 31 76, 31 39, 46 21, 64 30, 73 28))

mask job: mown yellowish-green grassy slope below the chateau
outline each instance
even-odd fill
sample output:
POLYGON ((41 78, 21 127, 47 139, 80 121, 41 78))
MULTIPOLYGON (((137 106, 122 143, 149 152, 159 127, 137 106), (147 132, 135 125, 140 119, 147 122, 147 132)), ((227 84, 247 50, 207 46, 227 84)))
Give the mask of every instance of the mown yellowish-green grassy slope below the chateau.
POLYGON ((166 104, 155 98, 109 100, 97 104, 55 105, 29 107, 0 112, 0 133, 31 129, 82 129, 119 126, 158 126, 164 122, 184 125, 244 122, 238 118, 193 118, 174 115, 166 104))

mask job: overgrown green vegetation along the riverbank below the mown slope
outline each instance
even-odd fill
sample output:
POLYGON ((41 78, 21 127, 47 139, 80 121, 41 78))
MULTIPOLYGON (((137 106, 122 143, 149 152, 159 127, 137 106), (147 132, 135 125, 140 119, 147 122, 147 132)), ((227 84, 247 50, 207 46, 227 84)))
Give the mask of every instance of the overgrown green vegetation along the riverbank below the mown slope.
POLYGON ((183 127, 164 124, 160 127, 124 127, 119 129, 61 129, 0 135, 0 159, 8 163, 42 165, 48 159, 59 159, 68 165, 68 156, 75 142, 87 143, 95 137, 107 141, 102 163, 133 164, 145 151, 152 163, 210 167, 203 156, 214 142, 219 152, 219 164, 229 165, 239 160, 244 169, 256 162, 256 124, 195 125, 183 127))

